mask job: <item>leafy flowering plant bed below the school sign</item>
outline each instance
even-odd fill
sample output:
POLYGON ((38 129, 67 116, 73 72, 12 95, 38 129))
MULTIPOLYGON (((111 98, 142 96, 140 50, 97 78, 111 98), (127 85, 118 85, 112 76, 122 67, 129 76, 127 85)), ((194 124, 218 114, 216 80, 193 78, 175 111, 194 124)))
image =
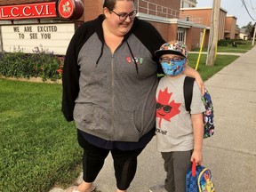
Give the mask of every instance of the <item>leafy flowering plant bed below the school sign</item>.
POLYGON ((63 57, 52 52, 34 50, 34 53, 2 52, 0 54, 0 75, 16 78, 41 77, 43 81, 56 81, 62 77, 63 57))

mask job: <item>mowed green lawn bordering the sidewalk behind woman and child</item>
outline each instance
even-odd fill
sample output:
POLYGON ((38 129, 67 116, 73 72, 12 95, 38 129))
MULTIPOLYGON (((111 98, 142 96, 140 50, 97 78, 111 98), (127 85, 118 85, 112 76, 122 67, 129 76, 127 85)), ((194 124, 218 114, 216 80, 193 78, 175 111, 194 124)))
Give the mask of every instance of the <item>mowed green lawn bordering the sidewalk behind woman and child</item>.
MULTIPOLYGON (((197 56, 189 54, 193 68, 197 56)), ((236 58, 220 55, 207 67, 202 55, 198 71, 206 80, 236 58)), ((61 85, 0 78, 0 100, 0 191, 47 192, 75 180, 82 150, 60 112, 61 85)))

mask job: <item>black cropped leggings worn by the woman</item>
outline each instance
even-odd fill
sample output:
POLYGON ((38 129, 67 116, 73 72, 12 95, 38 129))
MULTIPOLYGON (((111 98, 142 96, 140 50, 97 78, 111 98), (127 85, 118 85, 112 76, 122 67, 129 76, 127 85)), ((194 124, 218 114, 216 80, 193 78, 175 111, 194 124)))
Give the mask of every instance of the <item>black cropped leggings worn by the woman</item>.
POLYGON ((116 186, 120 190, 129 188, 137 169, 137 156, 140 155, 143 148, 136 150, 105 149, 93 146, 84 140, 83 135, 77 132, 79 145, 84 148, 83 156, 83 180, 93 182, 103 167, 105 158, 111 151, 114 160, 114 169, 116 176, 116 186))

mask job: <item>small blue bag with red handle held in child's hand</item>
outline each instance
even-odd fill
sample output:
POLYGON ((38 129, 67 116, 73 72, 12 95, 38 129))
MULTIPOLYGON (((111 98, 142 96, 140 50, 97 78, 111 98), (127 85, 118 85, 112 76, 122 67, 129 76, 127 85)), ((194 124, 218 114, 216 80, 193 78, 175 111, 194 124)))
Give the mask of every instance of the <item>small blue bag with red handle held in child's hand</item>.
POLYGON ((215 192, 211 171, 193 161, 186 175, 186 192, 215 192))

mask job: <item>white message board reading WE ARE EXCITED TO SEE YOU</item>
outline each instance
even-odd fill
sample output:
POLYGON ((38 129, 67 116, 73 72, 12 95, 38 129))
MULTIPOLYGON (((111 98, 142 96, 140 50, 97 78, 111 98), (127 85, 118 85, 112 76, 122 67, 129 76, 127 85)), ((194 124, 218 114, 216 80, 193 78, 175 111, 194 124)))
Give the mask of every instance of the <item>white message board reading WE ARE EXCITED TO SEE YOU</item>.
POLYGON ((36 47, 64 55, 75 33, 74 23, 2 26, 4 52, 33 53, 36 47), (17 50, 19 47, 20 50, 17 50))

